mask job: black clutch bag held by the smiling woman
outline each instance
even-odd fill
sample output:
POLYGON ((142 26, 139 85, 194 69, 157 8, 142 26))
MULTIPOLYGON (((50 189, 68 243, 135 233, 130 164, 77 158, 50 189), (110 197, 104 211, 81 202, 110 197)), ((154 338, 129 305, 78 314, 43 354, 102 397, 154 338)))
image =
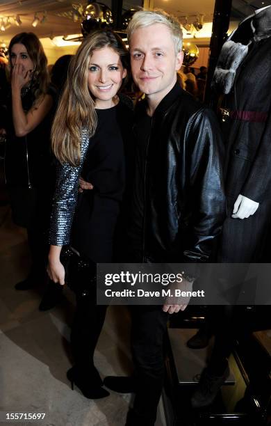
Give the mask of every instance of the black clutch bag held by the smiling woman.
POLYGON ((65 268, 65 283, 79 297, 96 292, 96 263, 83 258, 69 246, 60 253, 60 262, 65 268))

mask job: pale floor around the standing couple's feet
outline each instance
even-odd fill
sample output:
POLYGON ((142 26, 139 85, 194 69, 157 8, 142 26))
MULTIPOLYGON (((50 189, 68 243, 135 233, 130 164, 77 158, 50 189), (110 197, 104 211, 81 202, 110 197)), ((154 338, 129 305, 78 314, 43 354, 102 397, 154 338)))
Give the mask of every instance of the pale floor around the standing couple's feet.
MULTIPOLYGON (((22 423, 4 420, 6 412, 45 413, 44 420, 24 425, 122 426, 131 395, 111 392, 102 400, 88 400, 71 390, 66 371, 71 365, 69 328, 74 296, 65 289, 60 305, 45 313, 38 310, 44 289, 18 292, 17 281, 28 271, 24 230, 10 220, 8 206, 0 207, 0 425, 22 423)), ((129 313, 124 307, 108 308, 95 363, 101 376, 129 374, 129 313)), ((158 409, 157 426, 163 407, 158 409)))

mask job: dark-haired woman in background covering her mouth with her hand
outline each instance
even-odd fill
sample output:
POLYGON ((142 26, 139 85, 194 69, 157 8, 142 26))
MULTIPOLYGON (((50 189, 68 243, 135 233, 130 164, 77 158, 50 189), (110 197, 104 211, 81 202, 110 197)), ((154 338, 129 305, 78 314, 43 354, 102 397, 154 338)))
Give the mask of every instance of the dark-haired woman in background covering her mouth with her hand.
POLYGON ((49 224, 50 129, 55 92, 49 85, 47 58, 34 33, 19 33, 8 47, 10 95, 0 133, 6 134, 5 172, 13 220, 27 230, 32 265, 15 285, 28 290, 44 280, 49 224), (47 223, 48 216, 48 223, 47 223))

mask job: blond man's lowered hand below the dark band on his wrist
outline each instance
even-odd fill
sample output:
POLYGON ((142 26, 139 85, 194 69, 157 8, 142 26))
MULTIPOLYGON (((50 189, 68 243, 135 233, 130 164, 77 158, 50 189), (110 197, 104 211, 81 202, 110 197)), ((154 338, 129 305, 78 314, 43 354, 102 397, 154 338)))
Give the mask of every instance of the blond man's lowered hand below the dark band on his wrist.
POLYGON ((163 311, 167 313, 178 313, 179 310, 185 310, 190 301, 190 296, 174 296, 175 290, 181 290, 184 292, 192 292, 193 281, 187 281, 186 278, 182 278, 182 281, 178 283, 172 283, 167 287, 171 290, 171 297, 167 297, 165 299, 165 303, 163 305, 163 311))

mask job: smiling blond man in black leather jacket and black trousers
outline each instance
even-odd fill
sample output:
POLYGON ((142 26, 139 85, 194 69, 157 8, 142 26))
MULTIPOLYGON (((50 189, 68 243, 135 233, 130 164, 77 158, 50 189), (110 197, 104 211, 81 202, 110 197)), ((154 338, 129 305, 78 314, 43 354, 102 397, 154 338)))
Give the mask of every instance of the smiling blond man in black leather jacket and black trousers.
MULTIPOLYGON (((212 111, 177 81, 183 60, 179 22, 163 12, 142 10, 133 15, 128 36, 133 80, 146 95, 136 108, 133 128, 129 261, 206 262, 225 217, 220 130, 212 111)), ((185 272, 184 281, 192 281, 189 265, 185 272)), ((167 314, 185 308, 132 307, 136 397, 126 426, 154 425, 163 387, 167 314)), ((115 384, 113 379, 104 383, 121 391, 117 379, 123 378, 115 378, 115 384)))

